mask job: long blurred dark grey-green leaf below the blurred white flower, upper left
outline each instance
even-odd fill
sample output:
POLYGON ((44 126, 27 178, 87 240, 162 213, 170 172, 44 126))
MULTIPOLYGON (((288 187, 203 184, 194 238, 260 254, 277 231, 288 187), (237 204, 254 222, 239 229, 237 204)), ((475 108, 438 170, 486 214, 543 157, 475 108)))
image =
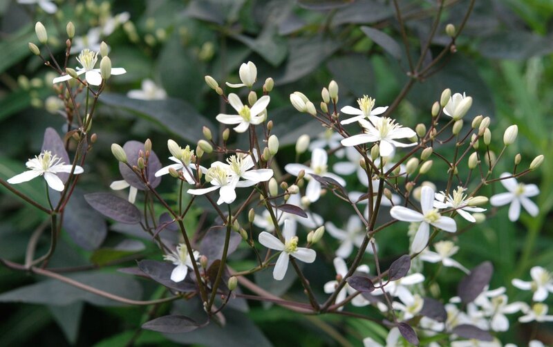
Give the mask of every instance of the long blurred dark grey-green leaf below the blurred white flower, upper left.
POLYGON ((140 118, 158 124, 167 133, 189 142, 203 139, 202 126, 215 129, 212 122, 184 100, 135 100, 115 93, 102 93, 100 100, 107 106, 131 111, 140 118))

